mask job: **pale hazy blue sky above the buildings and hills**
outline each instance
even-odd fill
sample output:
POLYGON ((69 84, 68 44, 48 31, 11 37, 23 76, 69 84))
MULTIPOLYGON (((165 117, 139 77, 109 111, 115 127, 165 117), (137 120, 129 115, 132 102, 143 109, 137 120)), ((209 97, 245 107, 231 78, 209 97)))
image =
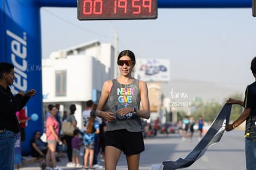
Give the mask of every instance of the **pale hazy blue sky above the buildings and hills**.
POLYGON ((170 59, 171 79, 213 82, 244 93, 254 82, 256 18, 252 9, 158 9, 156 20, 77 19, 76 8, 41 8, 43 57, 92 40, 137 58, 170 59))

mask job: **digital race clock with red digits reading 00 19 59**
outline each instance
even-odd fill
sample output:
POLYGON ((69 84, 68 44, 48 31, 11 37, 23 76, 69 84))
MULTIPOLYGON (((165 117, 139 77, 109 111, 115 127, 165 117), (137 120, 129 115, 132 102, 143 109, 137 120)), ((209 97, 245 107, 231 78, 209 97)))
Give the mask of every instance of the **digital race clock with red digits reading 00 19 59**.
POLYGON ((79 20, 156 19, 157 0, 77 0, 79 20))

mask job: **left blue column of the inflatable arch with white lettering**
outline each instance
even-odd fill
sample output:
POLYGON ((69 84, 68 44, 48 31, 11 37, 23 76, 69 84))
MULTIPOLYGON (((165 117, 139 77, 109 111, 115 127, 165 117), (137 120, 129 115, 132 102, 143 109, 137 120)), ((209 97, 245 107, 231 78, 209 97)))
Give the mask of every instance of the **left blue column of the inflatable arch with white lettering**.
MULTIPOLYGON (((35 130, 43 132, 42 75, 41 75, 41 27, 40 10, 35 1, 1 1, 1 62, 10 62, 15 67, 15 95, 20 90, 35 89, 37 94, 29 100, 27 117, 36 113, 38 120, 28 121, 25 141, 17 140, 15 147, 22 146, 23 155, 30 154, 30 140, 35 130)), ((18 149, 17 149, 18 150, 18 149)))

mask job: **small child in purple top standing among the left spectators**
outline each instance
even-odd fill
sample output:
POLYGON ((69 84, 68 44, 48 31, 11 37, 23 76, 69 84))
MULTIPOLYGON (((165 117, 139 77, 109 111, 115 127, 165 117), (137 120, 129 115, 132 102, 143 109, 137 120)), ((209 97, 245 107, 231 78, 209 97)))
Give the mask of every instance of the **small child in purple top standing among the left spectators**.
POLYGON ((80 146, 82 141, 79 138, 79 129, 74 130, 74 137, 71 140, 72 144, 72 162, 76 168, 82 168, 82 165, 79 164, 79 155, 80 155, 80 146))

